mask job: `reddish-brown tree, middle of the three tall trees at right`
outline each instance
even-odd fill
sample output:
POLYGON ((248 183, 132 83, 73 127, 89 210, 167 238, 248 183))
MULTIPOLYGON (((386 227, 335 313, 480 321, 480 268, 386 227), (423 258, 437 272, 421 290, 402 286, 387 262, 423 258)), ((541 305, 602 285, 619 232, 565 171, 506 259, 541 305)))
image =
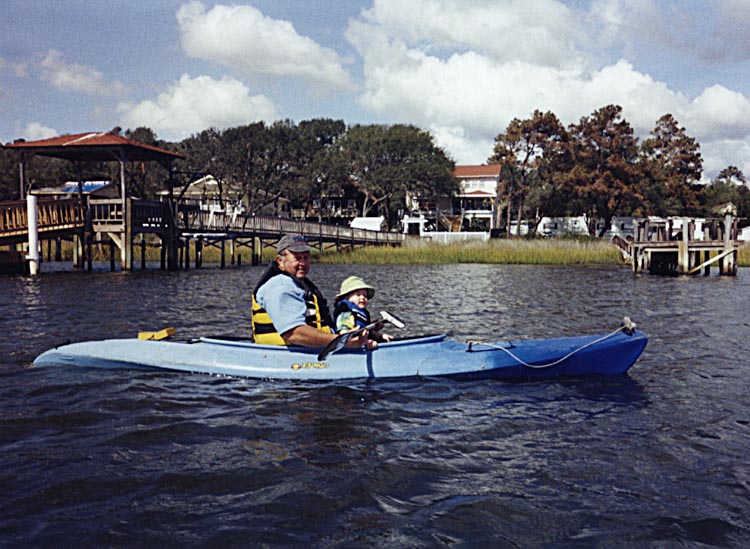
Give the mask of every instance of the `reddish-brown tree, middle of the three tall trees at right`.
POLYGON ((604 236, 612 218, 624 208, 638 203, 641 195, 637 164, 638 140, 630 124, 622 119, 622 107, 608 105, 591 116, 581 118, 569 128, 572 168, 566 175, 566 187, 584 212, 589 234, 604 236))

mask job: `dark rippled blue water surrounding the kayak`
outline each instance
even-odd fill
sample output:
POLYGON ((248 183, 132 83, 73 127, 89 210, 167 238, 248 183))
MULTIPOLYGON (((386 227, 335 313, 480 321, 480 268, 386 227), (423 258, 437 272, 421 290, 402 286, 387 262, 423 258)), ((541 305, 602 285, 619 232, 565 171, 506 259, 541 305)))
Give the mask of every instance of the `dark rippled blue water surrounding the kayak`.
MULTIPOLYGON (((45 265, 49 269, 51 265, 45 265)), ((649 337, 628 376, 256 381, 31 367, 66 340, 247 333, 262 268, 0 278, 0 545, 750 542, 750 271, 324 266, 401 333, 649 337)), ((392 330, 395 333, 395 330, 392 330)))

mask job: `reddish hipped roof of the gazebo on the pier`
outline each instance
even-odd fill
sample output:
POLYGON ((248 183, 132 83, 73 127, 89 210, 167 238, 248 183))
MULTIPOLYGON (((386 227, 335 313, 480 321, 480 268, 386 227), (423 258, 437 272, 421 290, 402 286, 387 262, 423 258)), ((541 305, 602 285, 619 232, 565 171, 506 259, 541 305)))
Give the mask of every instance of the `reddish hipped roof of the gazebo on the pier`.
POLYGON ((3 147, 65 160, 95 162, 120 160, 121 157, 129 161, 172 161, 185 158, 181 154, 110 132, 77 133, 36 141, 14 141, 6 143, 3 147))

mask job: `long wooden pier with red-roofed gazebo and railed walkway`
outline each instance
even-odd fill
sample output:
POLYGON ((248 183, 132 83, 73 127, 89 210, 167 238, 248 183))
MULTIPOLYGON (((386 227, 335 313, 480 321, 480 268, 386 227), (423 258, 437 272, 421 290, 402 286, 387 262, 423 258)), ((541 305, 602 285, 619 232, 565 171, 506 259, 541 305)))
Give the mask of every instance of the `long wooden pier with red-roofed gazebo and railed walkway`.
MULTIPOLYGON (((89 132, 63 135, 37 141, 16 140, 2 145, 18 153, 19 190, 27 201, 0 203, 0 246, 16 248, 27 243, 26 260, 31 274, 37 272, 41 256, 40 242, 54 240, 55 257, 59 256, 60 239, 73 242, 73 265, 92 268, 92 246, 109 246, 110 269, 115 270, 115 254, 119 249, 122 270, 133 269, 134 247, 140 246, 141 267, 146 265, 146 248, 161 248, 162 269, 188 268, 190 244, 195 241, 196 266, 202 262, 204 246, 221 250, 225 264, 225 244, 229 243, 230 261, 234 251, 243 246, 251 249, 252 262, 257 264, 265 247, 273 246, 285 233, 301 233, 323 252, 355 246, 398 246, 407 238, 401 233, 367 231, 291 219, 205 211, 174 199, 175 171, 173 162, 185 156, 167 149, 134 141, 113 132, 89 132), (58 200, 38 199, 31 192, 25 176, 27 162, 35 155, 69 160, 78 164, 78 195, 58 200), (120 167, 119 197, 84 196, 80 165, 84 162, 118 162, 120 167), (158 162, 169 171, 169 194, 166 202, 129 197, 126 185, 127 162, 158 162), (27 196, 29 195, 29 196, 27 196), (147 241, 147 235, 149 235, 147 241), (158 244, 156 244, 158 241, 158 244)), ((7 255, 18 257, 19 250, 7 255)), ((49 251, 48 251, 49 256, 49 251)), ((239 260, 239 257, 238 257, 239 260)))

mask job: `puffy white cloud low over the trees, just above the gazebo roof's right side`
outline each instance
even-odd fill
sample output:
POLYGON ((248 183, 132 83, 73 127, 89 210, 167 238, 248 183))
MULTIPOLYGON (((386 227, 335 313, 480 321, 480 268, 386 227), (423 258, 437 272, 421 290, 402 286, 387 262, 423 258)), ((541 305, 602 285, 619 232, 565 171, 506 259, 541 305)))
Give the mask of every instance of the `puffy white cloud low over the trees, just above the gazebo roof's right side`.
POLYGON ((242 82, 226 77, 221 80, 208 76, 191 78, 187 74, 160 93, 156 100, 120 103, 117 111, 123 127, 146 126, 164 139, 182 139, 207 128, 227 128, 279 118, 267 97, 251 96, 242 82))

